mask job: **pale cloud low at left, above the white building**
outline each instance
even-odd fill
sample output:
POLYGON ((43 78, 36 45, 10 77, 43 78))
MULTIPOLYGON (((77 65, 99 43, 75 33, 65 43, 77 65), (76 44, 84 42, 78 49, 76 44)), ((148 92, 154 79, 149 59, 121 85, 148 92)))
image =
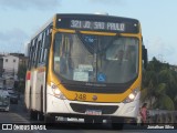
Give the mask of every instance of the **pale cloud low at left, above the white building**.
POLYGON ((12 29, 7 32, 0 32, 1 52, 23 52, 23 42, 28 34, 21 29, 12 29))

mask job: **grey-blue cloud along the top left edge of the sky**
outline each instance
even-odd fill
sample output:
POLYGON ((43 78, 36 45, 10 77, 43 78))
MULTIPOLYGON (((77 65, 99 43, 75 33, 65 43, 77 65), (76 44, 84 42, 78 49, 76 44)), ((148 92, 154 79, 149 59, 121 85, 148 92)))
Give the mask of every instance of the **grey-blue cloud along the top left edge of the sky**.
POLYGON ((3 9, 38 9, 53 10, 59 8, 61 0, 0 0, 0 7, 3 9))

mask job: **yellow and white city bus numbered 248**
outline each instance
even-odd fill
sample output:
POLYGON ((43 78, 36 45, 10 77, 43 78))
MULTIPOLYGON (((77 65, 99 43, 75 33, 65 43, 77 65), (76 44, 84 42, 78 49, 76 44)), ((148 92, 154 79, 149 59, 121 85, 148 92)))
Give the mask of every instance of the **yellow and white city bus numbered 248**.
MULTIPOLYGON (((143 51, 145 51, 143 53, 143 51)), ((102 14, 55 14, 28 45, 25 105, 31 119, 136 119, 143 60, 140 23, 102 14)))

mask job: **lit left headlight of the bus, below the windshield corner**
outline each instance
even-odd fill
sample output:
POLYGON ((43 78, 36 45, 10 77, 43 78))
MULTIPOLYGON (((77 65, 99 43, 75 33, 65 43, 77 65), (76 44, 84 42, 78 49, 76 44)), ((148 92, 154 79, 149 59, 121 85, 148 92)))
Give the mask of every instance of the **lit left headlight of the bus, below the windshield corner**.
POLYGON ((53 94, 61 99, 61 100, 66 100, 66 98, 64 96, 64 94, 60 91, 60 89, 58 88, 58 85, 55 85, 54 83, 51 83, 51 88, 53 91, 53 94))

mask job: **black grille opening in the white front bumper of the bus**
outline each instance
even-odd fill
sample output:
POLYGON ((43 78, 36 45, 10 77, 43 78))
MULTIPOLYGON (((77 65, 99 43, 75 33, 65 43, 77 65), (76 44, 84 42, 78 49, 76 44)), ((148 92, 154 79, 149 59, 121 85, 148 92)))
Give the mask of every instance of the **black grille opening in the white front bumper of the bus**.
POLYGON ((113 114, 118 109, 117 105, 91 105, 91 104, 77 104, 70 103, 73 111, 79 113, 85 113, 86 110, 101 110, 102 114, 113 114))

